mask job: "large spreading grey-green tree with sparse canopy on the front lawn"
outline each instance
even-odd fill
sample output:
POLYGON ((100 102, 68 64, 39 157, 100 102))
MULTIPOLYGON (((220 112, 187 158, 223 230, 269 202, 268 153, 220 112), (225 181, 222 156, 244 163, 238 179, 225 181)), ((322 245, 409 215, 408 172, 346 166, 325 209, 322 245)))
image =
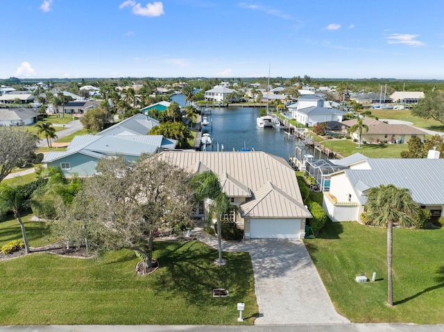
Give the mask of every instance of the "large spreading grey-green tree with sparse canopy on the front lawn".
POLYGON ((135 250, 148 271, 157 231, 191 225, 189 174, 156 155, 142 155, 135 164, 123 157, 102 159, 97 172, 85 180, 72 208, 60 218, 60 235, 65 241, 87 237, 89 246, 99 250, 135 250), (72 229, 76 220, 82 221, 77 232, 72 229))

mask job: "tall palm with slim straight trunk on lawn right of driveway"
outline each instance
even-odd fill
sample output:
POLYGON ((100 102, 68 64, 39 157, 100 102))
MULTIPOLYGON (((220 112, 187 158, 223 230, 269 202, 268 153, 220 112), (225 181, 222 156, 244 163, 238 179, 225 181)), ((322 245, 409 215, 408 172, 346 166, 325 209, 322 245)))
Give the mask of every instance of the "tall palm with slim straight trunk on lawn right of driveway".
POLYGON ((404 227, 414 225, 419 206, 411 198, 409 189, 397 188, 393 184, 370 189, 364 207, 365 219, 371 225, 387 227, 387 269, 388 269, 388 304, 393 306, 393 224, 404 227))

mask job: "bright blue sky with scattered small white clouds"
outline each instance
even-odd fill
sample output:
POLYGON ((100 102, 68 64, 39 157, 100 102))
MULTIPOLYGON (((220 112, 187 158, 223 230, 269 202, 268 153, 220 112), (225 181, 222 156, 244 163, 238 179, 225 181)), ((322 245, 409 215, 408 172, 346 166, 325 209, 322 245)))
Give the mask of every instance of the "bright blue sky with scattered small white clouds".
POLYGON ((0 78, 444 79, 444 1, 1 1, 0 78))

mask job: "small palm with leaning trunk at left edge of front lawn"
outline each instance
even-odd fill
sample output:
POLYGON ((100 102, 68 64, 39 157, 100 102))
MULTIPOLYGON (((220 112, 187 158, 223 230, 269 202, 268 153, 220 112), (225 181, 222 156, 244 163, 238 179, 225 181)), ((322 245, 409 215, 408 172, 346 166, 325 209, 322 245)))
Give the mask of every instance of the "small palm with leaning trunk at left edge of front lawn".
POLYGON ((19 190, 17 186, 8 186, 7 184, 2 184, 0 187, 0 213, 5 214, 8 211, 14 213, 14 218, 19 222, 20 228, 22 229, 22 238, 25 245, 26 254, 29 253, 28 238, 26 238, 25 226, 20 217, 20 211, 24 210, 25 203, 22 191, 19 190))

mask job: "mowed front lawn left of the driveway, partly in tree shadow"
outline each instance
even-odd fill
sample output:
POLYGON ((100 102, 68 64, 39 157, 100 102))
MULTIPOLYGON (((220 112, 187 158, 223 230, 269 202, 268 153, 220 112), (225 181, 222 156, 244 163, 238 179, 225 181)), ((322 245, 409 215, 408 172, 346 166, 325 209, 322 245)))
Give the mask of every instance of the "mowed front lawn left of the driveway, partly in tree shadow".
POLYGON ((0 262, 0 322, 10 324, 253 324, 258 310, 246 253, 224 254, 197 241, 155 242, 160 268, 135 274, 131 250, 94 259, 31 254, 0 262), (229 297, 212 297, 212 288, 229 297), (237 303, 245 303, 243 323, 237 303))

